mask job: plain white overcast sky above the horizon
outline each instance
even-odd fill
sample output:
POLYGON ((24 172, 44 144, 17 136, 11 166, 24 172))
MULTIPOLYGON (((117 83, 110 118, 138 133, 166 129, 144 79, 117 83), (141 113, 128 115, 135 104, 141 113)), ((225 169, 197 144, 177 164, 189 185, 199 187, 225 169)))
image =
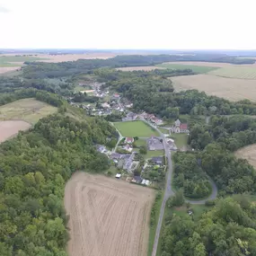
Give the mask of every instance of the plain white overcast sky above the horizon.
POLYGON ((0 0, 0 49, 256 49, 255 0, 0 0))

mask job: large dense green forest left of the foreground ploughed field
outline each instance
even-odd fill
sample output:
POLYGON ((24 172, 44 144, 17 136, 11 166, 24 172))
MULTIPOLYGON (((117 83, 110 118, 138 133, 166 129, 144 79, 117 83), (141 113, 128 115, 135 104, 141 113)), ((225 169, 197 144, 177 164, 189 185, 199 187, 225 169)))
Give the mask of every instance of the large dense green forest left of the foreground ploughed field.
POLYGON ((102 172, 95 150, 116 131, 102 119, 49 116, 0 146, 0 255, 66 256, 66 181, 76 170, 102 172))

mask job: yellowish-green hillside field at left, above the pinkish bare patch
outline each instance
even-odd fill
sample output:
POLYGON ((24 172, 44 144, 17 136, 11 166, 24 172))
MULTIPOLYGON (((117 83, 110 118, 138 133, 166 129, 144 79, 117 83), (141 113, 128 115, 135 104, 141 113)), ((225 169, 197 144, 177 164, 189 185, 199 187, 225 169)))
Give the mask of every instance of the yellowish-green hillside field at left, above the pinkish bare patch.
POLYGON ((0 107, 0 120, 24 120, 31 124, 57 111, 57 108, 35 99, 22 99, 0 107))

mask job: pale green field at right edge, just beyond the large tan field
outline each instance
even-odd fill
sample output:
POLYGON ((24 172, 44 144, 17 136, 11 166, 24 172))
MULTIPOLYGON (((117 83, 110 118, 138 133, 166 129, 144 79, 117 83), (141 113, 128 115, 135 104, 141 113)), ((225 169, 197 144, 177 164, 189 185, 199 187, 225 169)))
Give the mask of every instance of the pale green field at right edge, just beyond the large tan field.
POLYGON ((239 79, 256 79, 256 66, 232 66, 218 68, 209 72, 210 75, 217 75, 230 78, 239 78, 239 79))

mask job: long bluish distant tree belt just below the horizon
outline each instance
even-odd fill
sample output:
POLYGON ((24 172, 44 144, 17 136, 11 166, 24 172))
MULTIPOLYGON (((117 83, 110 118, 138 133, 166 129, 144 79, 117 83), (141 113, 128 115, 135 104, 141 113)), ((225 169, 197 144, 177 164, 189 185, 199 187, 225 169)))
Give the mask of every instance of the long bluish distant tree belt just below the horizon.
POLYGON ((206 61, 231 64, 253 64, 255 59, 229 57, 224 54, 195 55, 123 55, 108 59, 79 59, 61 63, 25 62, 22 67, 25 78, 53 78, 77 74, 92 74, 101 67, 155 66, 169 61, 206 61))

